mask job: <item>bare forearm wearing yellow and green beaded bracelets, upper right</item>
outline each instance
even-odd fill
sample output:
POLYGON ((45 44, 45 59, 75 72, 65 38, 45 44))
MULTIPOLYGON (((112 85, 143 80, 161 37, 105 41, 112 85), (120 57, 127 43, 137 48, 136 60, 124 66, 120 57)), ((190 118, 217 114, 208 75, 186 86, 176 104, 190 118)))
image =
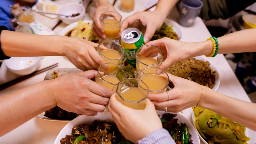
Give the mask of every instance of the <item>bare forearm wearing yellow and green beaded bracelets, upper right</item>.
MULTIPOLYGON (((256 52, 256 29, 246 29, 224 35, 217 38, 219 44, 218 54, 256 52)), ((203 41, 198 43, 189 43, 193 56, 209 55, 212 52, 212 42, 203 41)))

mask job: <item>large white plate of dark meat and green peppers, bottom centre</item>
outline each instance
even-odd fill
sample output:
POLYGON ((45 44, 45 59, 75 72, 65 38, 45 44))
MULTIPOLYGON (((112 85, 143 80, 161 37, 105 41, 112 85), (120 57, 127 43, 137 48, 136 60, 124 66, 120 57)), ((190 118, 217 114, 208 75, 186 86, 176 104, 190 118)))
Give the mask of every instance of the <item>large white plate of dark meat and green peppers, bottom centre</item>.
MULTIPOLYGON (((164 112, 164 111, 157 111, 158 115, 162 116, 165 113, 169 113, 169 112, 164 112)), ((178 119, 178 123, 185 123, 188 126, 188 131, 189 133, 192 135, 192 140, 193 143, 195 144, 199 144, 200 140, 199 137, 197 135, 197 131, 196 129, 193 127, 193 125, 188 121, 188 119, 186 119, 184 116, 182 116, 179 113, 173 113, 173 114, 177 114, 177 116, 175 117, 175 119, 178 119)), ((59 135, 57 136, 54 144, 60 144, 60 140, 62 138, 64 138, 66 135, 71 135, 71 130, 74 126, 79 125, 79 124, 87 124, 87 125, 91 125, 93 123, 93 121, 98 120, 98 121, 106 121, 106 122, 110 122, 110 123, 114 123, 112 115, 110 114, 110 112, 104 111, 103 113, 98 113, 96 116, 85 116, 85 115, 81 115, 75 119, 73 119, 71 122, 69 122, 59 133, 59 135)))

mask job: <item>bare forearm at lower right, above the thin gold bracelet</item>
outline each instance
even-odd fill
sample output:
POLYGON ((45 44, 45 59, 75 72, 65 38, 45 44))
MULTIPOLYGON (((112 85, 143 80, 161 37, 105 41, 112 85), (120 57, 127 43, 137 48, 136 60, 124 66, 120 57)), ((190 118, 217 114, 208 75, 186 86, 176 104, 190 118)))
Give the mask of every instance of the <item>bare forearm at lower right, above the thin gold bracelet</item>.
POLYGON ((234 122, 256 131, 256 104, 222 95, 204 86, 200 107, 212 110, 234 122))

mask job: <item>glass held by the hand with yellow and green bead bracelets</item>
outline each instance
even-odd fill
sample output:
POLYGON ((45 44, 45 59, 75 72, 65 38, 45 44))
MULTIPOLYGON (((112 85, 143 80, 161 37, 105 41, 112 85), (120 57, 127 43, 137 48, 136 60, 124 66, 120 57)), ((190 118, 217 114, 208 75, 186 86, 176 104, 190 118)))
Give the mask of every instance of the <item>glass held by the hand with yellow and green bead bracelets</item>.
POLYGON ((164 58, 161 49, 152 45, 140 47, 135 55, 136 69, 139 70, 146 67, 159 67, 164 58))

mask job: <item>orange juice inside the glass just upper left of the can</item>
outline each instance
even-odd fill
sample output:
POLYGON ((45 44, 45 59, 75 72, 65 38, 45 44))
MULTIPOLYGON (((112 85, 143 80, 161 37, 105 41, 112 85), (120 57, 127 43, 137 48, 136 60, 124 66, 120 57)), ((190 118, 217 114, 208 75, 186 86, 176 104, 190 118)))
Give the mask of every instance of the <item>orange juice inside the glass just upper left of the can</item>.
POLYGON ((104 34, 107 39, 115 39, 119 37, 120 22, 116 19, 104 19, 104 34))

